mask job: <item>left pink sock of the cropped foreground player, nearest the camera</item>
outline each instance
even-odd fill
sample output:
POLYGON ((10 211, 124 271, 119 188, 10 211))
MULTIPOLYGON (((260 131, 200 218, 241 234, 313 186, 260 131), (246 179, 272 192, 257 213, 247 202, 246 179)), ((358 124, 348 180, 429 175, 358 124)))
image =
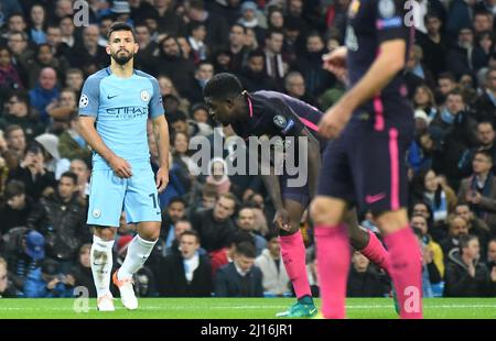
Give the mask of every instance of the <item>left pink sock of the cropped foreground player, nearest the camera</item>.
POLYGON ((322 314, 328 319, 344 319, 352 256, 346 227, 315 227, 315 246, 322 314))

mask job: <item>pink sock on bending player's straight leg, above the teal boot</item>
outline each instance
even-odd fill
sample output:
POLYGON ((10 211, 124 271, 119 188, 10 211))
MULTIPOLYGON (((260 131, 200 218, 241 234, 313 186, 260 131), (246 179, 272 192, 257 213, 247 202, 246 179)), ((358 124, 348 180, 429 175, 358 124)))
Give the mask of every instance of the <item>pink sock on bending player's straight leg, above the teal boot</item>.
POLYGON ((303 237, 298 231, 291 235, 281 235, 281 255, 288 276, 293 284, 296 298, 312 296, 309 277, 306 276, 306 251, 303 237))

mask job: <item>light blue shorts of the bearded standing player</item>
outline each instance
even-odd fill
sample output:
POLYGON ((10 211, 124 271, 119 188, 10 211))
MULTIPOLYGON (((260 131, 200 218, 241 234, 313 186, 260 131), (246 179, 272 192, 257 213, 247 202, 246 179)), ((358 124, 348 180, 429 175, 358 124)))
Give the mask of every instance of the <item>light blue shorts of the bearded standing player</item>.
POLYGON ((161 221, 159 196, 151 167, 132 169, 132 176, 123 179, 114 170, 91 172, 89 189, 88 224, 119 227, 126 211, 128 223, 161 221))

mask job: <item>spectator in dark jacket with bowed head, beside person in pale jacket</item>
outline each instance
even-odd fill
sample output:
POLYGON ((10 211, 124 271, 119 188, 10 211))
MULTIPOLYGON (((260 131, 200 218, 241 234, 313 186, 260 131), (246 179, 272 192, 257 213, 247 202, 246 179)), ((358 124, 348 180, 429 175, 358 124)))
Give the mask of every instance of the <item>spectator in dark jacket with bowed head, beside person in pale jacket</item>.
POLYGON ((236 246, 234 261, 224 265, 215 276, 216 297, 262 297, 262 273, 255 264, 251 243, 236 246))

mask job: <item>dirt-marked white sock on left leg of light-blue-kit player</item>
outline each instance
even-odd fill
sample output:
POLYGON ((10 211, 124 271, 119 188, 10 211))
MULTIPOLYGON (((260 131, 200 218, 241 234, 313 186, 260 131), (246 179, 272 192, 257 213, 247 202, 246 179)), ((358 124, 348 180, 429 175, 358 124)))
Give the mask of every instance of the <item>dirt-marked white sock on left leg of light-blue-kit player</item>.
POLYGON ((89 257, 91 262, 93 280, 98 297, 110 293, 110 276, 114 265, 112 246, 112 240, 105 241, 97 235, 93 237, 89 257))

